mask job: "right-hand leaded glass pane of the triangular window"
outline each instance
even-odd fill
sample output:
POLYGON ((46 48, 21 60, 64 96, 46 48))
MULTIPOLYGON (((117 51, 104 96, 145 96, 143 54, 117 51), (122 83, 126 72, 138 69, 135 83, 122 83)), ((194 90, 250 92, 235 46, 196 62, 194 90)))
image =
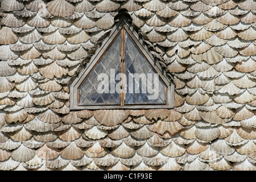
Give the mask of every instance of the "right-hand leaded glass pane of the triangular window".
POLYGON ((166 86, 125 34, 125 104, 166 104, 166 86))

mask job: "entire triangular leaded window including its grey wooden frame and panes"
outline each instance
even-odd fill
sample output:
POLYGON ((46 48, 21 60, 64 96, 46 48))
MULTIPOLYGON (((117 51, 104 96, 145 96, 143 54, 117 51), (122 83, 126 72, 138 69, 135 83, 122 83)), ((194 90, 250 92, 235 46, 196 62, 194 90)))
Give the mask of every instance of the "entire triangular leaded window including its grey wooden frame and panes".
POLYGON ((70 108, 174 107, 174 84, 121 16, 70 86, 70 108))

